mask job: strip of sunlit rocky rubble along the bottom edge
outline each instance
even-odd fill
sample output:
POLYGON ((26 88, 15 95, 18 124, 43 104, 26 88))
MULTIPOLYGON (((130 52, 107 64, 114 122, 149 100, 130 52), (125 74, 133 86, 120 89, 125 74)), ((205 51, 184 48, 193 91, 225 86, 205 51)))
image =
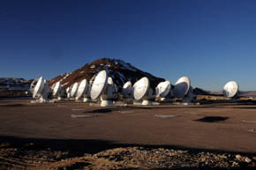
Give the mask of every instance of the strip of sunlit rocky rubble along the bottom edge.
POLYGON ((109 149, 71 157, 34 143, 0 146, 0 169, 255 169, 256 157, 145 147, 109 149))

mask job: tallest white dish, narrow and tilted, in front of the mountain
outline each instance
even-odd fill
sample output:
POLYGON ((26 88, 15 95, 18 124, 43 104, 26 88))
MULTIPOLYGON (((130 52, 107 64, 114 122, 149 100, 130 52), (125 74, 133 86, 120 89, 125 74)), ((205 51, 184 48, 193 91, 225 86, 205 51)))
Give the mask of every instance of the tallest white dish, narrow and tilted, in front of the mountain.
POLYGON ((100 71, 96 78, 94 79, 94 83, 91 88, 91 98, 95 100, 100 97, 102 92, 105 90, 106 85, 108 84, 108 75, 106 70, 100 71))

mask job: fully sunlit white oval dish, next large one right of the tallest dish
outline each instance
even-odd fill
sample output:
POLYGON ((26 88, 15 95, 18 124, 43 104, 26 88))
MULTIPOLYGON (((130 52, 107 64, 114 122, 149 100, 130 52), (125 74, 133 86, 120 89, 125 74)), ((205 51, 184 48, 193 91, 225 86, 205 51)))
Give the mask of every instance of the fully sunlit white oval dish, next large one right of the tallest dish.
POLYGON ((137 81, 134 85, 134 99, 135 100, 141 100, 148 92, 149 89, 149 80, 148 78, 140 78, 139 81, 137 81))

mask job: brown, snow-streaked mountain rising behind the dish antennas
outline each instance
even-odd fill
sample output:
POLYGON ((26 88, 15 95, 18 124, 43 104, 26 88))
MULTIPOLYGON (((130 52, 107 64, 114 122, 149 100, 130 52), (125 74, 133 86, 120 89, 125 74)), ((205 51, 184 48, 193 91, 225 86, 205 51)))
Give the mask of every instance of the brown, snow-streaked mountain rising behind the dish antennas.
POLYGON ((119 89, 121 89, 125 82, 132 81, 132 84, 134 84, 139 78, 143 77, 149 79, 150 86, 153 89, 160 82, 164 81, 164 78, 156 78, 145 71, 135 68, 131 63, 125 63, 117 59, 101 58, 92 63, 85 64, 78 70, 52 78, 49 81, 49 85, 54 85, 57 81, 61 81, 64 88, 67 88, 84 78, 90 80, 101 70, 107 70, 109 72, 109 77, 113 78, 119 89))

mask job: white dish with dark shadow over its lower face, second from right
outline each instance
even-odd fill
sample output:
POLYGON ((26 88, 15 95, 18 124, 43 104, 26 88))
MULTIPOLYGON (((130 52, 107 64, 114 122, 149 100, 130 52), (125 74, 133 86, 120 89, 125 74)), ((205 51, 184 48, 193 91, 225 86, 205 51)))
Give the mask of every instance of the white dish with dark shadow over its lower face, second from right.
POLYGON ((184 98, 184 96, 189 91, 190 79, 187 77, 179 78, 174 85, 173 94, 177 98, 184 98))

